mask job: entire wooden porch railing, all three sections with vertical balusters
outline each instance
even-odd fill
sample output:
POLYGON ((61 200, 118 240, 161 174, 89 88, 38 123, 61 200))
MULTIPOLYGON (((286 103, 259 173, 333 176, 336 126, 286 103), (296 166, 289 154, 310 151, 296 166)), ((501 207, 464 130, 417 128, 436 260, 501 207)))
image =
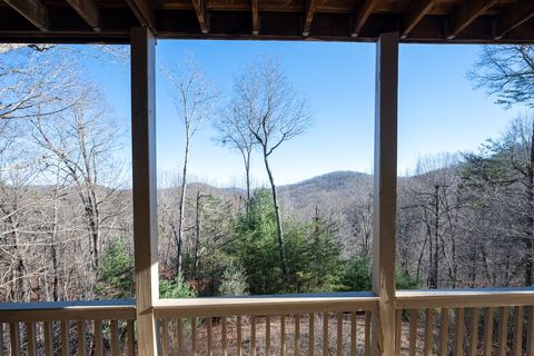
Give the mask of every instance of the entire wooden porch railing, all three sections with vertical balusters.
MULTIPOLYGON (((162 355, 372 355, 372 293, 161 299, 162 355)), ((134 300, 0 304, 0 355, 135 355, 134 300)), ((399 290, 396 355, 534 356, 534 288, 399 290)))

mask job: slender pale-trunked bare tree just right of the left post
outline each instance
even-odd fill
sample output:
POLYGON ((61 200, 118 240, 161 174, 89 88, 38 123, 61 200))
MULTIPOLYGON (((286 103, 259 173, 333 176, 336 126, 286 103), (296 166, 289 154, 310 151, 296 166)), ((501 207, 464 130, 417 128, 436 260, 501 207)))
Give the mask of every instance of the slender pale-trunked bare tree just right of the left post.
POLYGON ((180 275, 182 269, 184 219, 189 149, 195 134, 200 129, 201 125, 214 115, 214 108, 219 92, 205 78, 192 58, 176 65, 171 69, 166 69, 164 72, 171 83, 171 96, 174 97, 178 117, 184 123, 185 130, 184 165, 179 201, 180 216, 178 218, 178 236, 176 241, 178 246, 176 273, 180 275))

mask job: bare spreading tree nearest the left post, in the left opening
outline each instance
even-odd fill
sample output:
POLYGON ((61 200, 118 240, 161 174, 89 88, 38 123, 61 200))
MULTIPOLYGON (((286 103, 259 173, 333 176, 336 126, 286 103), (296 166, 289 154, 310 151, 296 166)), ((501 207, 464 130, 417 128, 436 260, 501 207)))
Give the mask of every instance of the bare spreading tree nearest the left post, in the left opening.
POLYGON ((118 215, 113 209, 107 211, 105 205, 113 200, 121 178, 112 155, 119 148, 120 131, 100 102, 98 92, 88 89, 80 92, 76 105, 53 119, 40 116, 32 119, 33 139, 44 150, 44 159, 51 166, 58 165, 76 187, 83 206, 95 270, 99 266, 102 224, 118 215))

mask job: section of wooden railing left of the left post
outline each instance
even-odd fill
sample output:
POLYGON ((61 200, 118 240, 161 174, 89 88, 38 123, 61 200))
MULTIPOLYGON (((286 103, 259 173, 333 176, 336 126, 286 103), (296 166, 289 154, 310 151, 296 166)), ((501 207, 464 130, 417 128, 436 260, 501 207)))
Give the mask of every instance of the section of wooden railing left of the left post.
POLYGON ((0 304, 0 355, 135 355, 135 300, 0 304))

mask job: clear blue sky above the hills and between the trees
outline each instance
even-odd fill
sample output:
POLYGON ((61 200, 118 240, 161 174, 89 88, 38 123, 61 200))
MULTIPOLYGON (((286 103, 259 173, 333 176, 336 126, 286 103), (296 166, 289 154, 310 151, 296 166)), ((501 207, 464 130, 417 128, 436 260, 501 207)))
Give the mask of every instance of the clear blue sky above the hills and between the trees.
MULTIPOLYGON (((483 90, 474 90, 467 71, 477 46, 403 44, 399 59, 398 171, 405 174, 418 157, 444 151, 476 150, 495 138, 524 108, 504 108, 483 90)), ((277 41, 170 41, 157 46, 160 65, 194 55, 205 75, 228 97, 235 73, 249 61, 274 53, 283 59, 288 78, 308 99, 315 122, 307 134, 281 146, 273 157, 278 184, 290 184, 335 170, 370 172, 375 95, 375 46, 370 43, 277 41)), ((97 82, 129 126, 129 71, 125 66, 90 63, 97 82)), ((184 129, 172 105, 170 86, 157 81, 158 169, 178 172, 182 162, 184 129)), ((216 186, 243 186, 240 157, 217 146, 206 125, 194 139, 191 176, 216 186)), ((129 142, 126 145, 128 147, 129 142)), ((125 159, 129 159, 125 150, 125 159)), ((260 157, 253 178, 264 185, 260 157)))

